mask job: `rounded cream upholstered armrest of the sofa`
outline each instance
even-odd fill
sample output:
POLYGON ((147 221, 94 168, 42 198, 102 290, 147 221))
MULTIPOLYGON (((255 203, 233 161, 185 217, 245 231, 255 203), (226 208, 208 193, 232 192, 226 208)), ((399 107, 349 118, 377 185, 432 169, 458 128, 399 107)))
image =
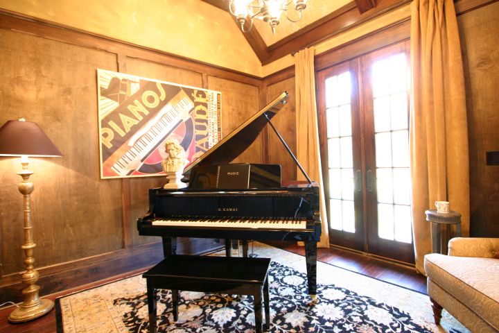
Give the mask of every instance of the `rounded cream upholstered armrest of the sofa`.
POLYGON ((448 242, 448 255, 499 259, 499 238, 456 237, 448 242))

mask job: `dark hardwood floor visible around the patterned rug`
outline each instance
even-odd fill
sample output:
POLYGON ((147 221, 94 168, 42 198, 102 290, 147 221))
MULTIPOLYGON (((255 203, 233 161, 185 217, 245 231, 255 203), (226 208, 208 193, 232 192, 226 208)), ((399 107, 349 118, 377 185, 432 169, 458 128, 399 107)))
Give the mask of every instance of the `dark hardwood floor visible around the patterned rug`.
MULTIPOLYGON (((304 248, 299 247, 295 244, 273 243, 272 245, 278 246, 279 248, 284 248, 285 250, 293 253, 304 255, 304 248)), ((367 276, 371 276, 372 278, 376 278, 378 280, 391 282, 402 287, 426 293, 426 278, 424 278, 423 275, 417 274, 413 268, 408 268, 399 264, 392 264, 390 262, 385 262, 374 257, 369 257, 367 255, 358 253, 351 253, 349 251, 338 248, 319 248, 319 250, 317 251, 317 259, 321 262, 326 262, 338 267, 346 268, 349 271, 358 272, 367 276)), ((141 272, 130 272, 125 275, 116 276, 107 280, 101 280, 93 284, 85 285, 78 289, 72 289, 61 293, 44 296, 44 298, 54 300, 57 297, 72 293, 74 291, 78 291, 80 289, 86 289, 88 287, 93 287, 95 285, 112 280, 119 280, 119 278, 131 275, 132 273, 141 272)), ((55 325, 55 310, 50 311, 49 314, 46 314, 41 318, 37 318, 35 321, 21 324, 11 324, 8 323, 7 318, 13 309, 13 307, 8 307, 0 310, 0 333, 57 332, 57 328, 55 325)))

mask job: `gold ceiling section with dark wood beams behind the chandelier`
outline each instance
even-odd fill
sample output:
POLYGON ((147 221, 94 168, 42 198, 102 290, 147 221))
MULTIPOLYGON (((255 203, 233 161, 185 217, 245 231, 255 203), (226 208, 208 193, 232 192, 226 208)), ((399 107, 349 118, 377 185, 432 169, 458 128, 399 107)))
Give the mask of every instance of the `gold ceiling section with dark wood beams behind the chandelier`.
MULTIPOLYGON (((225 10, 226 15, 231 16, 228 10, 229 0, 202 1, 225 10)), ((267 65, 286 54, 295 53, 342 33, 408 2, 410 0, 307 0, 299 22, 289 22, 283 15, 276 33, 272 34, 267 23, 255 19, 251 31, 241 33, 262 65, 267 65)), ((290 15, 295 14, 294 10, 290 12, 290 15)), ((235 20, 234 24, 238 25, 235 20)))

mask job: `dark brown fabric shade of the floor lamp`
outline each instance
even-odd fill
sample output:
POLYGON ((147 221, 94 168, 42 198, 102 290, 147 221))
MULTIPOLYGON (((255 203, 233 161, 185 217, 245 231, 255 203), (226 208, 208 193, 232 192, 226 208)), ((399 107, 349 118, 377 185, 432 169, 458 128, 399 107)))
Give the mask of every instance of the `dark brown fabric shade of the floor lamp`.
POLYGON ((31 121, 9 120, 0 128, 0 156, 62 156, 42 128, 31 121))

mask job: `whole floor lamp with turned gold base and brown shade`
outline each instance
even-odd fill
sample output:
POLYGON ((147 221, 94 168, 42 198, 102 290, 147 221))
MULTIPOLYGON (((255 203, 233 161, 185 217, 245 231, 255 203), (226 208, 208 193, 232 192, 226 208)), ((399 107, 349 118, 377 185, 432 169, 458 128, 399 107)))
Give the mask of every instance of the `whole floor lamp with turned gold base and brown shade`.
POLYGON ((53 308, 51 300, 41 299, 38 296, 38 287, 35 283, 40 275, 33 264, 33 223, 31 223, 31 199, 33 182, 29 178, 33 171, 28 170, 28 156, 30 157, 56 157, 62 156, 49 137, 36 124, 24 119, 10 120, 0 128, 0 156, 20 156, 22 171, 17 173, 23 178, 18 189, 24 196, 24 264, 26 272, 21 275, 21 280, 26 284, 23 289, 24 301, 12 311, 8 320, 12 323, 21 323, 43 316, 53 308))

